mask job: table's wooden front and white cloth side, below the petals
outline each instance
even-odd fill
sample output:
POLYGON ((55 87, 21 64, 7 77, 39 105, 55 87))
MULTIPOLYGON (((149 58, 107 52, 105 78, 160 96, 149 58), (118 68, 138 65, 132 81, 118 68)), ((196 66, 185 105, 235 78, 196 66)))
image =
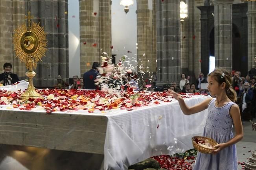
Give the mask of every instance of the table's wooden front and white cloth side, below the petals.
MULTIPOLYGON (((184 98, 189 106, 209 96, 184 98)), ((42 107, 0 108, 0 143, 104 154, 102 169, 127 169, 160 154, 193 148, 191 138, 203 132, 207 109, 190 116, 179 103, 161 102, 132 109, 55 111, 42 107)))

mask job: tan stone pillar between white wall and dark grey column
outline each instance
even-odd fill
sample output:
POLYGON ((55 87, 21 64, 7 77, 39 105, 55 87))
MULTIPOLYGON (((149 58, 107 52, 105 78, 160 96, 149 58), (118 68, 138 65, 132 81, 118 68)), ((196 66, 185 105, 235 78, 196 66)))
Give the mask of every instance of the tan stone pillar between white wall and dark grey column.
POLYGON ((137 0, 136 14, 138 67, 143 63, 144 78, 149 78, 156 71, 155 0, 153 9, 149 9, 148 0, 137 0))

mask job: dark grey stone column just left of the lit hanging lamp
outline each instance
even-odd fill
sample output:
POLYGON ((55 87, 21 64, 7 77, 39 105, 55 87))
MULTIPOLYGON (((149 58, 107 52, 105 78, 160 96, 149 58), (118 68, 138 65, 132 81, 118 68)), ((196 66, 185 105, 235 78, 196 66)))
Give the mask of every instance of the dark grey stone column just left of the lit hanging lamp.
POLYGON ((157 1, 157 85, 180 80, 180 0, 157 1))

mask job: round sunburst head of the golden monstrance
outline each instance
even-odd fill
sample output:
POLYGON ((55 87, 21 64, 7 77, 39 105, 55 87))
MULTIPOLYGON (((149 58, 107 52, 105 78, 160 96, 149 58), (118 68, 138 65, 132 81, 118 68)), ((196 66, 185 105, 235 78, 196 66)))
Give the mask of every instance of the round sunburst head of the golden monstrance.
POLYGON ((26 62, 27 69, 29 69, 29 62, 27 62, 29 56, 33 56, 33 68, 36 69, 37 62, 42 61, 41 58, 42 56, 45 56, 45 52, 47 50, 47 40, 46 34, 44 33, 44 27, 41 27, 39 24, 40 23, 32 22, 30 30, 28 30, 26 24, 18 25, 13 36, 16 57, 20 58, 21 62, 26 62), (33 38, 38 39, 39 44, 33 44, 33 38))

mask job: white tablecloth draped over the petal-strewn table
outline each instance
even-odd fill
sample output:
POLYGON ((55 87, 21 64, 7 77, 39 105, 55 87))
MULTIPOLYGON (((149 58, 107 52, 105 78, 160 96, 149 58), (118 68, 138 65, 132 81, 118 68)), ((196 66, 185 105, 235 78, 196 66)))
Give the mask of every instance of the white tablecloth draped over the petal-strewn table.
MULTIPOLYGON (((5 88, 17 90, 24 89, 23 86, 26 85, 27 82, 22 82, 5 88)), ((195 95, 184 100, 188 106, 193 106, 208 97, 195 95)), ((2 107, 1 110, 5 110, 9 106, 2 105, 2 107)), ((44 109, 33 109, 33 111, 45 112, 44 109)), ((104 170, 126 170, 129 165, 151 156, 175 154, 193 148, 191 138, 203 133, 207 109, 186 116, 182 114, 178 101, 173 99, 170 103, 137 107, 131 111, 113 109, 105 113, 99 110, 94 113, 86 113, 85 110, 55 113, 106 116, 108 122, 104 146, 104 170)), ((71 130, 72 128, 70 127, 71 130)))

